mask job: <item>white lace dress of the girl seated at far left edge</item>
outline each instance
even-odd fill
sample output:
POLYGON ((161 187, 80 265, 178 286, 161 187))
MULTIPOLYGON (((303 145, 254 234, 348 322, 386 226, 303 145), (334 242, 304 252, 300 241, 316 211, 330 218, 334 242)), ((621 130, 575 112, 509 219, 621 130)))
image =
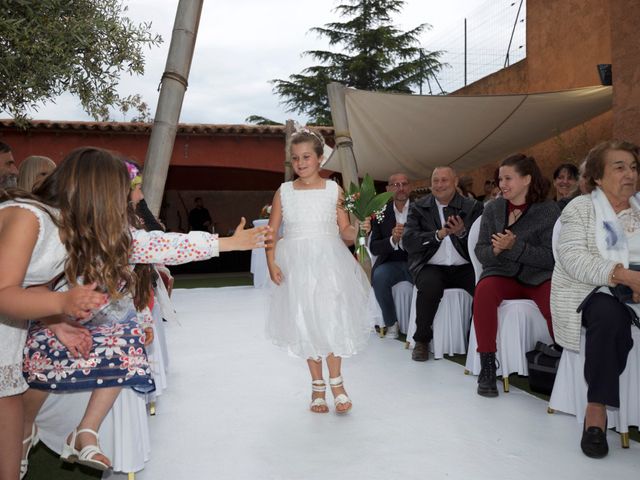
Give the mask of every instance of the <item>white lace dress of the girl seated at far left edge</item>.
MULTIPOLYGON (((23 287, 49 283, 62 272, 66 251, 58 227, 47 213, 31 203, 4 202, 0 209, 21 207, 31 211, 39 223, 38 239, 22 283, 23 287)), ((28 322, 0 316, 0 397, 17 395, 27 389, 22 376, 22 349, 28 322)))

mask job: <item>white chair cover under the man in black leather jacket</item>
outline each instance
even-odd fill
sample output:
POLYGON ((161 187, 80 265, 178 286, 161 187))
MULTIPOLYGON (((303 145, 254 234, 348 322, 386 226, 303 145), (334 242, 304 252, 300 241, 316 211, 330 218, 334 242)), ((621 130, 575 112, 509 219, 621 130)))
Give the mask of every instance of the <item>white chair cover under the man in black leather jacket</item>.
MULTIPOLYGON (((413 289, 411 316, 407 329, 407 344, 415 347, 413 335, 416 333, 416 299, 418 289, 413 289)), ((433 318, 433 340, 430 350, 433 358, 443 358, 445 354, 467 353, 467 332, 471 323, 473 297, 461 288, 445 289, 436 316, 433 318)))

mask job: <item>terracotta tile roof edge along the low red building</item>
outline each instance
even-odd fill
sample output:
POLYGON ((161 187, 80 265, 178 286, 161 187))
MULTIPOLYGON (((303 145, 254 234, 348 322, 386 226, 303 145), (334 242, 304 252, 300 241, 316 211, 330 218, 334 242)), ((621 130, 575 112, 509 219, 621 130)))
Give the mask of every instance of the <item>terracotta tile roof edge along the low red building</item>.
MULTIPOLYGON (((150 133, 151 123, 133 122, 71 122, 56 120, 31 120, 30 130, 84 130, 105 132, 150 133)), ((11 119, 0 119, 0 128, 18 128, 11 119)), ((325 137, 333 136, 333 127, 320 127, 325 137)), ((180 123, 178 135, 246 135, 282 136, 284 125, 219 125, 207 123, 180 123)))

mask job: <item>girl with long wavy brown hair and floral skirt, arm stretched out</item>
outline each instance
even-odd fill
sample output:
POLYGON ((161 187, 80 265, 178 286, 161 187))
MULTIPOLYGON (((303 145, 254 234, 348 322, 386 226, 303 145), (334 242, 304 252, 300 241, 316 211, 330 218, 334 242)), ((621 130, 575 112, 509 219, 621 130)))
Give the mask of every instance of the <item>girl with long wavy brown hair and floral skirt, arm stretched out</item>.
MULTIPOLYGON (((222 239, 206 232, 183 235, 132 231, 127 219, 129 190, 130 179, 124 163, 110 152, 87 147, 69 154, 35 192, 44 204, 41 208, 52 212, 58 229, 48 232, 47 238, 63 246, 61 251, 57 250, 55 266, 48 278, 64 273, 69 285, 86 283, 89 287, 85 289, 89 291, 98 285, 109 296, 110 304, 96 309, 98 303, 87 301, 82 305, 84 310, 79 310, 80 314, 91 314, 87 327, 93 332, 89 337, 93 345, 67 349, 46 328, 31 330, 25 375, 35 388, 24 395, 26 440, 22 474, 26 472, 28 450, 37 442, 31 425, 49 391, 94 389, 80 425, 67 437, 62 458, 104 470, 110 462, 100 450, 96 433, 104 416, 122 387, 153 388, 144 351, 146 335, 143 326, 137 323, 136 314, 136 310, 146 305, 144 293, 148 299, 149 285, 139 281, 130 268, 131 263, 184 263, 210 258, 220 251, 250 249, 262 244, 264 228, 244 231, 240 228, 233 237, 222 239), (81 354, 85 358, 78 358, 81 354)), ((18 198, 13 203, 24 201, 18 198)), ((37 313, 29 310, 23 314, 15 308, 5 312, 3 305, 0 314, 41 318, 63 313, 53 307, 57 299, 66 294, 43 291, 43 287, 32 290, 26 294, 43 305, 37 313)), ((74 314, 70 310, 64 313, 74 314)), ((56 321, 66 322, 60 318, 56 321)), ((22 345, 19 348, 22 349, 22 345)), ((15 412, 20 420, 21 413, 15 412)), ((0 414, 3 416, 4 412, 0 414)), ((2 420, 4 418, 0 418, 0 422, 2 420)), ((6 466, 6 470, 11 471, 12 461, 13 457, 4 457, 0 463, 7 462, 7 465, 0 465, 0 469, 6 466)))

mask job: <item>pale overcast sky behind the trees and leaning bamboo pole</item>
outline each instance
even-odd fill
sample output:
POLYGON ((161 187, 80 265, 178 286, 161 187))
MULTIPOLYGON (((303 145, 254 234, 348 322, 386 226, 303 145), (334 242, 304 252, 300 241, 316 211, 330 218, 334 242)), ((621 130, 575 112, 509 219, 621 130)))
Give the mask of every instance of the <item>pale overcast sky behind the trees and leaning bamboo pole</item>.
MULTIPOLYGON (((446 35, 460 28, 463 18, 487 2, 498 0, 408 0, 396 25, 408 30, 420 23, 433 26, 423 36, 446 35)), ((501 0, 504 1, 504 0, 501 0)), ((164 43, 146 52, 143 77, 123 78, 122 95, 140 93, 152 114, 158 101, 157 87, 164 70, 178 0, 128 0, 129 16, 152 22, 164 43)), ((272 93, 269 80, 287 78, 312 65, 301 57, 310 49, 329 49, 326 39, 309 29, 339 21, 335 0, 205 0, 195 54, 180 121, 183 123, 244 123, 252 114, 278 121, 305 118, 288 113, 272 93)), ((506 2, 508 5, 511 2, 506 2)), ((63 96, 32 112, 35 119, 91 120, 75 98, 63 96)), ((6 118, 6 114, 3 115, 6 118)), ((115 120, 127 120, 115 114, 115 120)))

